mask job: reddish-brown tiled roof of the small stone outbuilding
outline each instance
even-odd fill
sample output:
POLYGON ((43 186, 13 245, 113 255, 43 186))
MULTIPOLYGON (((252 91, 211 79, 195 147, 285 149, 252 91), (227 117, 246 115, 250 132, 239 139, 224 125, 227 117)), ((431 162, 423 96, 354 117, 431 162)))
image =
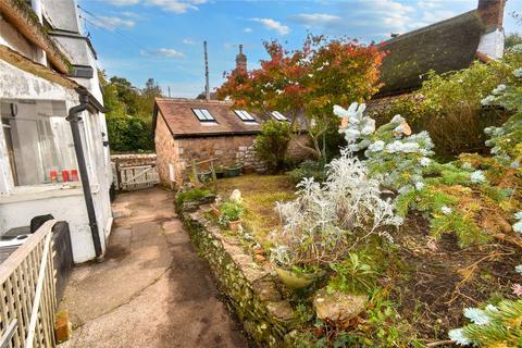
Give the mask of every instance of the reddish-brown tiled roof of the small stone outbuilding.
POLYGON ((263 119, 250 114, 258 123, 241 121, 234 113, 232 101, 157 98, 152 129, 156 129, 157 117, 163 116, 175 138, 258 134, 263 119), (200 122, 192 109, 207 109, 214 116, 215 123, 200 122))

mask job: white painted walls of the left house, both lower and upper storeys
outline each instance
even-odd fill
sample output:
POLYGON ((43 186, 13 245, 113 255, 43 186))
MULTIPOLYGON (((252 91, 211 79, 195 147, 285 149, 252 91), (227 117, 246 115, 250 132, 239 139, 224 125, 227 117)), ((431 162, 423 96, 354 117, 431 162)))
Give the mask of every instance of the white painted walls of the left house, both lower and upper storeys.
MULTIPOLYGON (((62 40, 60 37, 55 37, 55 39, 60 41, 59 47, 64 50, 64 54, 67 55, 73 65, 94 67, 94 78, 75 78, 75 80, 86 87, 102 104, 101 89, 96 73, 96 54, 87 45, 85 38, 82 38, 75 1, 34 0, 33 3, 35 1, 41 5, 42 15, 50 23, 65 23, 64 30, 71 30, 74 27, 67 25, 76 23, 77 39, 70 40, 66 38, 62 40), (53 14, 53 11, 59 13, 53 14)), ((41 50, 27 41, 1 17, 0 45, 8 46, 35 62, 41 62, 41 57, 45 57, 41 50)), ((24 99, 36 100, 37 102, 63 101, 65 110, 79 103, 75 90, 51 83, 0 60, 0 101, 17 102, 24 99)), ((65 116, 66 114, 63 114, 63 117, 65 116)), ((88 111, 84 111, 79 116, 82 117, 79 126, 85 161, 89 174, 100 241, 104 252, 112 225, 109 198, 112 172, 109 147, 103 146, 103 140, 107 140, 105 117, 101 113, 90 113, 88 111)), ((70 128, 69 132, 71 132, 70 128)), ((61 146, 71 146, 71 144, 61 144, 61 146)), ((7 156, 4 134, 0 132, 0 234, 12 227, 28 225, 33 216, 48 213, 53 214, 55 219, 70 223, 75 262, 85 262, 95 258, 92 236, 80 183, 15 186, 7 156)))

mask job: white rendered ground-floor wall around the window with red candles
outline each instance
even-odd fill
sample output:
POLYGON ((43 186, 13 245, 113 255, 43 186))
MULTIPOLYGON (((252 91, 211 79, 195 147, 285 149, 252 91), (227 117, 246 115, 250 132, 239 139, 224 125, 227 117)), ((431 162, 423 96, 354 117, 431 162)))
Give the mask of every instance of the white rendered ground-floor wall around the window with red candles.
MULTIPOLYGON (((0 99, 63 100, 67 110, 78 104, 78 96, 61 85, 22 71, 0 60, 0 99)), ((103 115, 80 114, 80 128, 87 144, 86 163, 94 192, 97 224, 103 251, 105 250, 112 213, 109 198, 110 165, 105 163, 101 132, 103 115)), ((111 176, 112 181, 112 176, 111 176)), ((14 187, 7 157, 3 132, 0 132, 0 228, 28 225, 35 215, 51 213, 71 224, 71 237, 75 262, 95 258, 92 237, 88 225, 85 200, 80 188, 63 188, 60 185, 14 187)), ((3 232, 2 231, 2 232, 3 232)))

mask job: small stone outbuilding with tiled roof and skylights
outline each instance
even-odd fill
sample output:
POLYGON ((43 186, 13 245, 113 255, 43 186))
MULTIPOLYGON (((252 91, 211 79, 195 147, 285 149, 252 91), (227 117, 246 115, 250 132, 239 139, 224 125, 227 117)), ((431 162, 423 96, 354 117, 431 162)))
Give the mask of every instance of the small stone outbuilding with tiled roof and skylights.
MULTIPOLYGON (((234 109, 232 101, 157 98, 152 129, 158 156, 157 166, 164 184, 182 184, 192 160, 199 162, 215 158, 216 165, 241 163, 245 171, 264 171, 256 157, 253 144, 261 132, 261 123, 272 117, 288 122, 274 111, 261 116, 234 109)), ((296 141, 307 141, 304 135, 296 141)), ((290 142, 289 156, 304 158, 306 153, 290 142)))

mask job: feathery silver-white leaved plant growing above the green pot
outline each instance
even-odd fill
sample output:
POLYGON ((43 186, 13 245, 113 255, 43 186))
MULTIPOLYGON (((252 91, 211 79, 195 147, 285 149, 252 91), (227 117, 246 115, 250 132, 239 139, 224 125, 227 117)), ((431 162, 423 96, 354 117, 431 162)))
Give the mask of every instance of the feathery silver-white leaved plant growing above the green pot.
POLYGON ((276 210, 283 231, 274 235, 272 259, 286 268, 335 262, 372 234, 393 241, 386 227, 402 223, 393 202, 381 198, 380 182, 368 177, 364 163, 348 149, 327 165, 324 184, 304 178, 297 198, 277 202, 276 210))

